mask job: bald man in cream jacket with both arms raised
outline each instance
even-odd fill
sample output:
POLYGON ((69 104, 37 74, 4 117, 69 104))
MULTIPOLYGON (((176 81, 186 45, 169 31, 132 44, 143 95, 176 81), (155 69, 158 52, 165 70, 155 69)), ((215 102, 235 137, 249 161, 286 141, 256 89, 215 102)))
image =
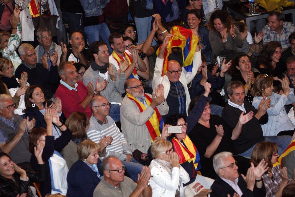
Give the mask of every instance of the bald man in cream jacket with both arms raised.
POLYGON ((163 45, 156 59, 153 77, 153 90, 158 87, 158 84, 163 84, 165 87, 164 97, 169 106, 169 112, 163 116, 164 120, 169 115, 177 113, 188 115, 187 110, 189 103, 191 102, 191 98, 187 84, 189 84, 191 80, 194 79, 194 76, 202 64, 201 52, 198 44, 195 49, 196 52, 193 59, 193 69, 190 76, 186 76, 185 72, 182 72, 184 68, 181 68, 180 64, 175 60, 170 60, 168 62, 168 71, 165 72, 164 76, 161 76, 163 70, 164 52, 168 45, 168 40, 172 36, 172 34, 168 34, 163 40, 163 45))

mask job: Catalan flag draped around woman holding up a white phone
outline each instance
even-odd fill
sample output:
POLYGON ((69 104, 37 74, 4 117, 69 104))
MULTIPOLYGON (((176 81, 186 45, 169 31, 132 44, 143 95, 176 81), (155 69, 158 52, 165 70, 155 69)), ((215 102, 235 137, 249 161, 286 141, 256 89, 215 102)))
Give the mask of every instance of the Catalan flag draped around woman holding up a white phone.
POLYGON ((184 162, 193 162, 194 164, 194 175, 196 175, 197 170, 201 169, 201 163, 200 163, 200 154, 194 145, 194 143, 191 141, 189 136, 186 136, 185 139, 182 140, 183 143, 186 145, 183 146, 176 137, 172 139, 172 144, 174 151, 179 156, 179 163, 182 164, 184 162))

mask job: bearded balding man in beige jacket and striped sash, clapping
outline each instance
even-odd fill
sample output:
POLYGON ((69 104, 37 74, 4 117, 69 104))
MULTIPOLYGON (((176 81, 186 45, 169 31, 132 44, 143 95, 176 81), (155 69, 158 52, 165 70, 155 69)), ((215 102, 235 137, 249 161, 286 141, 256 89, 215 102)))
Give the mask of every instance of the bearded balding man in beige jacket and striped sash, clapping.
POLYGON ((154 94, 145 94, 142 82, 128 79, 124 84, 127 95, 121 105, 121 129, 132 152, 135 149, 147 153, 152 141, 160 135, 162 115, 169 107, 164 99, 164 86, 159 84, 154 94))

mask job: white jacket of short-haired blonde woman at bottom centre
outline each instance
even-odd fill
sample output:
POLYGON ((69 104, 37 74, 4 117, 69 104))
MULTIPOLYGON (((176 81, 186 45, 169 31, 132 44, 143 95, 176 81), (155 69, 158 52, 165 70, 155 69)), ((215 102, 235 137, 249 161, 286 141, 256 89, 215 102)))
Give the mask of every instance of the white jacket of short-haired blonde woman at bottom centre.
MULTIPOLYGON (((150 186, 153 190, 153 197, 175 196, 178 189, 179 179, 181 183, 189 182, 189 174, 183 167, 173 167, 171 175, 164 170, 155 160, 150 162, 150 186)), ((180 186, 180 196, 183 196, 183 184, 180 186)))

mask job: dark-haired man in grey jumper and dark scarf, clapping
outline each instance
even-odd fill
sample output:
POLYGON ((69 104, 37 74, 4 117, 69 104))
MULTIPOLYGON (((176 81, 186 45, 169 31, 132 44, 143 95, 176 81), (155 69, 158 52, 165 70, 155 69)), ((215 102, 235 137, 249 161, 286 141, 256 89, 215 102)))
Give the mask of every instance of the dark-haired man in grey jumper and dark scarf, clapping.
POLYGON ((113 64, 109 64, 109 50, 106 43, 96 41, 90 45, 91 63, 83 76, 83 83, 96 82, 106 80, 107 86, 100 94, 112 103, 110 108, 110 116, 113 120, 120 120, 120 105, 123 100, 121 94, 125 92, 124 83, 126 81, 125 71, 128 68, 128 61, 120 62, 120 75, 113 64))

